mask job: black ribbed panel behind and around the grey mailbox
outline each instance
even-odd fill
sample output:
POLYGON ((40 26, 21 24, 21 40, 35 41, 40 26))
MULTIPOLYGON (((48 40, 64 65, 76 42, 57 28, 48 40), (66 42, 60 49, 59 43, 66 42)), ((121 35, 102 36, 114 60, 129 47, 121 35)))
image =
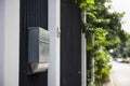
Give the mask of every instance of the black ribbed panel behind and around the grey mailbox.
POLYGON ((48 0, 21 0, 20 86, 48 86, 48 73, 27 75, 28 27, 48 29, 48 0))

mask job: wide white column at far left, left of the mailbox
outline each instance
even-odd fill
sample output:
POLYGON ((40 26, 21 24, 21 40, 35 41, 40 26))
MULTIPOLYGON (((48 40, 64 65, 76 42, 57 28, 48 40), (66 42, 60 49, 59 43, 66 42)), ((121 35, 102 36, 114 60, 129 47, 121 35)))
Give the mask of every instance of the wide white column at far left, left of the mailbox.
POLYGON ((4 85, 18 86, 20 0, 4 0, 4 85))

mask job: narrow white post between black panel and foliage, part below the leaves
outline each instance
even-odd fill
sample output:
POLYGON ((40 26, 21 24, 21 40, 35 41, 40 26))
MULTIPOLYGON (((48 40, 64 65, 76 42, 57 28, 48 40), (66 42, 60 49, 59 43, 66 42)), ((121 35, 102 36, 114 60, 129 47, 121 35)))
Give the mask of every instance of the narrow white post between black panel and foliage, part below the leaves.
POLYGON ((81 86, 87 86, 86 33, 81 33, 81 86))

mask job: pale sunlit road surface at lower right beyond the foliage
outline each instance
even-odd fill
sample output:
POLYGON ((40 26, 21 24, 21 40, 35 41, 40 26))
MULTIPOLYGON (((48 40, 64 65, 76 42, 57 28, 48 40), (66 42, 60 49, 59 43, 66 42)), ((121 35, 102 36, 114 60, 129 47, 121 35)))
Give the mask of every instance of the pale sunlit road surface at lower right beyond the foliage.
POLYGON ((130 64, 113 62, 113 86, 130 86, 130 64))

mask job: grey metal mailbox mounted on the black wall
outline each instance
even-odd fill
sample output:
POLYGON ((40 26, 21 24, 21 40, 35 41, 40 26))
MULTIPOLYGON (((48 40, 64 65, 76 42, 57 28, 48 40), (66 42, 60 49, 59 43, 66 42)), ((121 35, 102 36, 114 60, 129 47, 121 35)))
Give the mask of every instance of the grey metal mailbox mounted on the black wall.
POLYGON ((28 74, 43 72, 49 68, 49 31, 41 27, 28 28, 28 74))

